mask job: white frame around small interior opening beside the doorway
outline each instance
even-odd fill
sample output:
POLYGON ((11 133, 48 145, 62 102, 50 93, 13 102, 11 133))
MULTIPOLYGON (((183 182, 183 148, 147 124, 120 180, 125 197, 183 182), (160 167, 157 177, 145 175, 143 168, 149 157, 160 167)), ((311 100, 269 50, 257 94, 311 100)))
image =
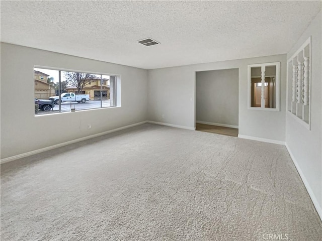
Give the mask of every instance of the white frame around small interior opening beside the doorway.
MULTIPOLYGON (((265 77, 269 77, 267 75, 265 77)), ((262 104, 261 104, 262 105, 262 104)), ((249 64, 248 65, 248 109, 251 110, 268 110, 268 111, 280 111, 280 62, 271 62, 271 63, 261 63, 261 64, 249 64), (276 66, 276 73, 275 73, 275 82, 276 82, 276 93, 275 93, 275 108, 269 108, 265 106, 261 107, 252 107, 251 98, 252 98, 252 67, 265 67, 266 66, 276 66)))

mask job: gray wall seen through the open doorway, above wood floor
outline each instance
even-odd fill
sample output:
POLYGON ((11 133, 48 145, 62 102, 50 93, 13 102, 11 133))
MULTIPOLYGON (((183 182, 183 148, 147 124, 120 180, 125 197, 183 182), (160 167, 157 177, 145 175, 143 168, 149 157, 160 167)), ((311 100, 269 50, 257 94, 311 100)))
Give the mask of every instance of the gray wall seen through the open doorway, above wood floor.
POLYGON ((238 69, 196 73, 196 121, 238 126, 238 69))

